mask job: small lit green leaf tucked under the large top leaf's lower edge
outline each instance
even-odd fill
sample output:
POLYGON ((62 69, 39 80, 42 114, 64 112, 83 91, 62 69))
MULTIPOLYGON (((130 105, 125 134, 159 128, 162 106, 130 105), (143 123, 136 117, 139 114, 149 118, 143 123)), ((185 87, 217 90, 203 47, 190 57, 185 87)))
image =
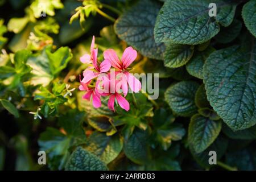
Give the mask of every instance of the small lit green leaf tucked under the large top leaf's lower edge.
POLYGON ((178 68, 188 63, 193 56, 194 46, 167 44, 164 52, 164 66, 178 68))

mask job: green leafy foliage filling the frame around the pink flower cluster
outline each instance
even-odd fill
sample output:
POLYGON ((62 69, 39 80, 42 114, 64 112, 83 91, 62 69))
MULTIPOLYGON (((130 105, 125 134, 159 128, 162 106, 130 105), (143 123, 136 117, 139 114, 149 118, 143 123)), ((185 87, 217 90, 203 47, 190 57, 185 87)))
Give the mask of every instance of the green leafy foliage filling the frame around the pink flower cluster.
POLYGON ((0 0, 0 15, 0 169, 256 169, 255 0, 0 0), (158 100, 82 100, 93 35, 100 57, 137 49, 132 72, 159 73, 158 100))

